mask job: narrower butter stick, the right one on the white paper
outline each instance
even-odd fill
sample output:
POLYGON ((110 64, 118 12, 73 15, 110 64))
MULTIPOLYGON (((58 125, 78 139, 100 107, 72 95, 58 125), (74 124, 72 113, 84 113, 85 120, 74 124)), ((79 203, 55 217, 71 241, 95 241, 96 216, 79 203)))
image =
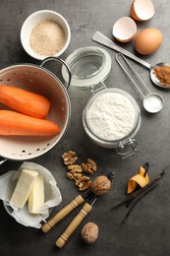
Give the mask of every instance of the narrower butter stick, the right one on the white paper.
POLYGON ((30 214, 39 214, 40 207, 44 203, 44 183, 43 176, 38 175, 33 183, 28 196, 28 212, 30 214))

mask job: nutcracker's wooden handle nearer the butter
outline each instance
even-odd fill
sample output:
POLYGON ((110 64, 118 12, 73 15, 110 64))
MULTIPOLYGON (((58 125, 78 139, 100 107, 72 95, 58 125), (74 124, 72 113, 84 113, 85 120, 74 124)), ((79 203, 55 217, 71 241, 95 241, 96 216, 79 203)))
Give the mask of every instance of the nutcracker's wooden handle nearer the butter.
POLYGON ((81 205, 85 201, 85 198, 78 195, 69 205, 65 206, 60 212, 58 212, 51 220, 46 224, 42 224, 41 229, 47 233, 55 224, 58 224, 63 220, 68 214, 70 214, 75 208, 81 205))

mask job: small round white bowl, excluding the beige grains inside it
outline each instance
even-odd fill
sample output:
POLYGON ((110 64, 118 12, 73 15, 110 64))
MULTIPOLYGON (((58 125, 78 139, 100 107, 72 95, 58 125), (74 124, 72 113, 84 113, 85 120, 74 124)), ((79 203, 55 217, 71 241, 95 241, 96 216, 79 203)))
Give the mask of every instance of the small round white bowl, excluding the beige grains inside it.
POLYGON ((41 22, 47 21, 47 20, 51 20, 51 21, 58 23, 63 28, 63 30, 65 32, 65 36, 66 36, 66 40, 63 45, 63 48, 53 56, 59 57, 61 54, 64 53, 64 51, 69 46, 69 43, 71 40, 71 30, 70 30, 69 24, 65 20, 65 18, 63 16, 61 16, 60 14, 58 14, 54 11, 51 11, 51 10, 37 11, 37 12, 31 14, 30 16, 28 16, 28 19, 23 24, 22 30, 21 30, 22 45, 23 45, 24 49, 26 50, 26 52, 28 53, 28 55, 30 55, 34 59, 43 60, 44 58, 49 57, 49 56, 43 56, 43 55, 37 54, 35 51, 33 51, 33 49, 30 47, 30 44, 29 44, 29 36, 30 36, 30 32, 32 31, 32 29, 38 23, 41 23, 41 22))

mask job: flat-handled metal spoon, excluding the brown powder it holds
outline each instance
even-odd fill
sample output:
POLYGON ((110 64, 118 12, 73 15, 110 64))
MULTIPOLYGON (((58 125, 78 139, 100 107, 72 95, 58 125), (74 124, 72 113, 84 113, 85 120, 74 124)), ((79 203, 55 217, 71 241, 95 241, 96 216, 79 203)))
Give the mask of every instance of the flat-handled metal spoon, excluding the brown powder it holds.
POLYGON ((143 61, 133 53, 129 52, 128 50, 122 48, 121 46, 117 45, 114 43, 112 40, 110 40, 108 37, 106 37, 104 34, 101 32, 95 32, 92 36, 92 40, 99 42, 102 45, 105 45, 115 51, 118 51, 120 53, 123 53, 125 56, 135 60, 139 64, 141 64, 144 68, 147 68, 150 71, 150 79, 151 81, 158 87, 165 88, 165 89, 170 89, 167 85, 161 84, 159 80, 155 77, 154 75, 154 69, 156 67, 170 67, 169 63, 166 62, 161 62, 156 64, 155 66, 151 66, 149 63, 143 61))

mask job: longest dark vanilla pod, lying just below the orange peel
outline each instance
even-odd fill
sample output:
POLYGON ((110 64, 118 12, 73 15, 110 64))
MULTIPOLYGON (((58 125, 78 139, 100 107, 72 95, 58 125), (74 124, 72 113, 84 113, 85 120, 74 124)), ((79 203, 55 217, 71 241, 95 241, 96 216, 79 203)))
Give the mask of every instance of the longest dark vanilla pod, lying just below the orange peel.
POLYGON ((139 190, 135 191, 134 193, 132 193, 128 198, 126 198, 125 200, 123 200, 122 202, 116 204, 115 206, 113 206, 111 209, 114 209, 118 206, 124 205, 124 204, 128 204, 129 202, 133 201, 138 195, 140 195, 143 191, 147 190, 150 186, 152 186, 154 183, 156 183, 164 174, 164 170, 162 170, 162 172, 157 175, 150 183, 148 183, 147 185, 145 185, 143 188, 140 188, 139 190))

